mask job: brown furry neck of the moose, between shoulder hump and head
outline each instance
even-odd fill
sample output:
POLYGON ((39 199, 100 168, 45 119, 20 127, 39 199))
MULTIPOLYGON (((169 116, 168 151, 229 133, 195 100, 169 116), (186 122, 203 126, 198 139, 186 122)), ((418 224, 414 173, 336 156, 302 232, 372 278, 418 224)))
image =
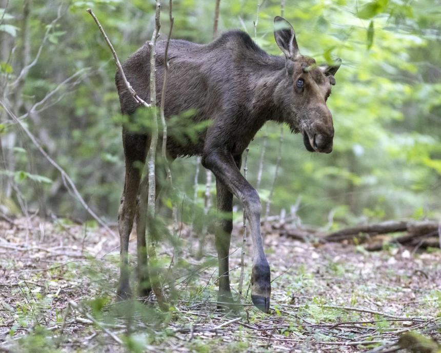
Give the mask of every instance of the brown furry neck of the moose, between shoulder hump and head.
POLYGON ((293 81, 290 69, 282 57, 270 55, 265 63, 254 71, 252 81, 253 110, 260 120, 287 123, 296 129, 296 112, 293 109, 293 81))

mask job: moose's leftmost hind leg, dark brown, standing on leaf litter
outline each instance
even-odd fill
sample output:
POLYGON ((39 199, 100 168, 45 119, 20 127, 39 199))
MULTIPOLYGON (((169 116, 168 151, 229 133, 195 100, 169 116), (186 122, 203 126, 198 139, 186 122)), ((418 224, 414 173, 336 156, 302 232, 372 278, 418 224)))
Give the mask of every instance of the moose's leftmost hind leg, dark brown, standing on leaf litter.
POLYGON ((129 299, 132 295, 128 264, 129 237, 133 228, 136 209, 136 196, 141 180, 139 167, 145 163, 147 138, 144 135, 127 135, 123 133, 124 154, 126 159, 126 177, 121 205, 118 211, 118 230, 120 249, 120 276, 117 299, 129 299), (137 165, 138 163, 138 165, 137 165))

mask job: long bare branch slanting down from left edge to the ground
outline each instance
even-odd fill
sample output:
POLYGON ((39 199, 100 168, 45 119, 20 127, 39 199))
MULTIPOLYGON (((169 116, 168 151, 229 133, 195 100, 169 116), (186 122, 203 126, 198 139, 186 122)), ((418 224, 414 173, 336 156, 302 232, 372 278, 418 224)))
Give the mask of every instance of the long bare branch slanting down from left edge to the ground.
POLYGON ((20 127, 25 131, 25 133, 28 135, 29 139, 32 141, 32 143, 35 145, 35 147, 43 154, 43 156, 48 160, 50 164, 52 164, 61 174, 63 178, 63 182, 65 183, 66 188, 73 192, 76 199, 81 203, 81 205, 86 209, 86 211, 97 221, 99 224, 101 224, 109 234, 112 234, 113 237, 116 237, 115 233, 107 226, 107 224, 98 217, 98 215, 87 205, 86 201, 84 201, 83 197, 79 193, 78 189, 76 188, 74 182, 69 177, 69 175, 66 173, 66 171, 60 167, 52 158, 51 156, 46 153, 46 151, 43 149, 42 145, 40 145, 35 138, 35 136, 32 134, 32 132, 26 127, 25 124, 23 124, 21 121, 18 120, 18 118, 15 116, 15 114, 9 110, 9 108, 5 105, 3 101, 0 100, 0 104, 3 106, 5 111, 9 114, 9 116, 14 120, 15 123, 20 125, 20 127))

